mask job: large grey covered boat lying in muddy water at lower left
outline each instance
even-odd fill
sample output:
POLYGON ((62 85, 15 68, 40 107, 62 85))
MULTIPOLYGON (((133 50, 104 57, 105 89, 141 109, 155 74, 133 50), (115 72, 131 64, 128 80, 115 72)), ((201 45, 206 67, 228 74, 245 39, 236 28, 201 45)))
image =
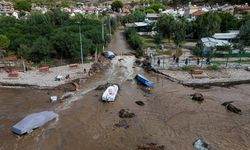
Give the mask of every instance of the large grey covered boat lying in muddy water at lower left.
POLYGON ((30 133, 33 129, 43 126, 47 122, 58 117, 58 114, 53 111, 43 111, 38 113, 32 113, 24 117, 17 124, 12 126, 11 131, 18 135, 30 133))

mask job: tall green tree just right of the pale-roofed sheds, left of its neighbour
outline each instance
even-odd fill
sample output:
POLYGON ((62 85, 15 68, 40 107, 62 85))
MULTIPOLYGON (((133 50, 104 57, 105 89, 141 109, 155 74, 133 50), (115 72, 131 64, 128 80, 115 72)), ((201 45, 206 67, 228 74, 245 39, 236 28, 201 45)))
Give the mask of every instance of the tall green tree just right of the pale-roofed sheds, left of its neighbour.
POLYGON ((158 32, 161 32, 164 37, 170 39, 172 35, 172 28, 174 26, 175 19, 171 15, 163 15, 157 22, 158 32))

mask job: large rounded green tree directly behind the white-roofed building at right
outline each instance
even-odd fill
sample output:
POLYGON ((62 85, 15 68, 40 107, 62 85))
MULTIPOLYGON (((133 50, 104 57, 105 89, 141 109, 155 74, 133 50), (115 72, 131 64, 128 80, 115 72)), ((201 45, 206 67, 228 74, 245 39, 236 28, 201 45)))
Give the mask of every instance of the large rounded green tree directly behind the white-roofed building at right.
POLYGON ((198 38, 212 36, 220 31, 221 19, 218 14, 209 12, 199 16, 195 21, 195 25, 195 34, 198 38))

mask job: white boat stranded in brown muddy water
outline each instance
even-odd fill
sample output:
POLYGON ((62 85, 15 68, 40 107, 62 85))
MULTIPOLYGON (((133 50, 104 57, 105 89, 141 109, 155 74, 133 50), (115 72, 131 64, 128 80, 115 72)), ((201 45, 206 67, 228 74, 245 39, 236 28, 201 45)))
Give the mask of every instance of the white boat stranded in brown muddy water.
POLYGON ((102 95, 102 101, 113 102, 115 101, 115 97, 119 87, 117 85, 109 86, 102 95))

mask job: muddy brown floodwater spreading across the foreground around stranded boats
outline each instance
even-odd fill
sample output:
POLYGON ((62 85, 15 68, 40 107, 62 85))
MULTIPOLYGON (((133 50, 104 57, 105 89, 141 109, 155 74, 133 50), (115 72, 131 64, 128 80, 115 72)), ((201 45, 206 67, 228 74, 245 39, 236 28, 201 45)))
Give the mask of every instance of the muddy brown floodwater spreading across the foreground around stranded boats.
MULTIPOLYGON (((120 33, 113 39, 118 45, 120 33)), ((49 102, 50 95, 61 91, 0 89, 0 150, 135 150, 151 142, 166 150, 193 150, 192 142, 199 137, 218 150, 250 149, 250 85, 193 89, 144 73, 133 67, 134 60, 133 56, 116 57, 108 70, 88 79, 63 103, 49 102), (155 83, 150 94, 132 80, 137 73, 155 83), (107 82, 121 86, 114 103, 101 102, 103 91, 94 90, 107 82), (203 103, 191 100, 194 92, 204 95, 203 103), (242 115, 227 111, 221 106, 225 101, 235 101, 242 115), (121 109, 135 116, 120 118, 121 109), (22 137, 11 133, 11 126, 24 116, 44 110, 54 110, 59 119, 22 137), (115 125, 121 121, 126 128, 115 125)))

